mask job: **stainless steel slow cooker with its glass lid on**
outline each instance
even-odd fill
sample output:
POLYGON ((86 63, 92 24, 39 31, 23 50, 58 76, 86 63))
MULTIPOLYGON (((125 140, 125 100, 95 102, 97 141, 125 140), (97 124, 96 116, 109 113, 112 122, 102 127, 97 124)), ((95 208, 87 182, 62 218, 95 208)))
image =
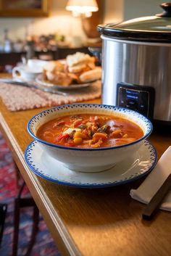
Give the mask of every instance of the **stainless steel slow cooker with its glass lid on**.
POLYGON ((102 38, 102 103, 171 123, 171 3, 164 12, 98 25, 102 38))

